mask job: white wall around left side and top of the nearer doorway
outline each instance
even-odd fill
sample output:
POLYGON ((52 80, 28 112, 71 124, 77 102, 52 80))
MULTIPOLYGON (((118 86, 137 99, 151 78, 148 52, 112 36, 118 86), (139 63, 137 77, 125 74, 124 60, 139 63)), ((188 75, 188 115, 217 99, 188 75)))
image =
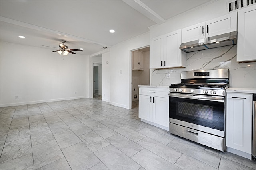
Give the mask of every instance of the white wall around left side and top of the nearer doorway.
POLYGON ((149 33, 110 49, 110 104, 130 108, 130 51, 149 45, 149 33))

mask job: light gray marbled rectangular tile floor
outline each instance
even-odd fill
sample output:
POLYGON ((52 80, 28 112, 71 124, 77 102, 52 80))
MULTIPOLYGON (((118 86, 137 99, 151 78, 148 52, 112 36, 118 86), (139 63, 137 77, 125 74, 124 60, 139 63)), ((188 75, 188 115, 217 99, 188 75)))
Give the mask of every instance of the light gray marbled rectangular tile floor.
POLYGON ((98 99, 2 107, 0 169, 252 170, 256 161, 171 135, 98 99))

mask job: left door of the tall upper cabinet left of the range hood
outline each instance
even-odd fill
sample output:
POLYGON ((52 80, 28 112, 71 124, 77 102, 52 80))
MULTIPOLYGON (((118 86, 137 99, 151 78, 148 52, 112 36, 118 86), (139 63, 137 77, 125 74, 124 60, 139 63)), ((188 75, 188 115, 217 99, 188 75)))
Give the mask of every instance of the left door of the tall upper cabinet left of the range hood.
POLYGON ((150 41, 150 69, 161 68, 164 58, 164 36, 150 41))

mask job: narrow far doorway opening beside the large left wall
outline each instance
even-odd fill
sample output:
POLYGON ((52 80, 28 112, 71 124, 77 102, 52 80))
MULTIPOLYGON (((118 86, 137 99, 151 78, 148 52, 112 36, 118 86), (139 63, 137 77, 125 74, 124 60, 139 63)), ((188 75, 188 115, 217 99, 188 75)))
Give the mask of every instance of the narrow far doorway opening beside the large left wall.
POLYGON ((93 63, 93 98, 102 100, 102 64, 93 63))

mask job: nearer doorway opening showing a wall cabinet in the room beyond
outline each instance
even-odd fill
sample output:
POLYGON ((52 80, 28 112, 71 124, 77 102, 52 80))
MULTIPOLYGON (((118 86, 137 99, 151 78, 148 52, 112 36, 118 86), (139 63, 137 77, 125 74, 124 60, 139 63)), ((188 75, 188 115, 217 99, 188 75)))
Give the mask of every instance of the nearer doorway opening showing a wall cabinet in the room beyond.
POLYGON ((131 88, 130 88, 130 108, 139 106, 138 85, 150 84, 149 69, 149 47, 143 47, 131 51, 131 88))

